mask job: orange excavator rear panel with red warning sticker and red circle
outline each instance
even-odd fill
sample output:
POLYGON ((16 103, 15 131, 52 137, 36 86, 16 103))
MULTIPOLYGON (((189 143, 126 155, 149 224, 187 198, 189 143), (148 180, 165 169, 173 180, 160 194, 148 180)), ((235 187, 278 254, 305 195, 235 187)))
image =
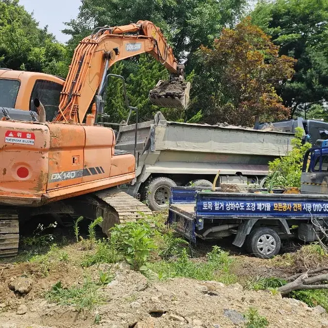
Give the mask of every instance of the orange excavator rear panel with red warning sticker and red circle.
POLYGON ((44 193, 49 146, 45 124, 0 121, 0 195, 39 197, 44 193))

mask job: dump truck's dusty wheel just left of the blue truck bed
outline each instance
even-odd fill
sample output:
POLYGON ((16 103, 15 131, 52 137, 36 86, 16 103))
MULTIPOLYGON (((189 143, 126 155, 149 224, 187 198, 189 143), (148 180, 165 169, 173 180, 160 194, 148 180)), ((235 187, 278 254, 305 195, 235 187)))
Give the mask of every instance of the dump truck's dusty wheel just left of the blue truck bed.
POLYGON ((155 178, 150 181, 146 189, 147 205, 153 211, 163 211, 169 207, 171 187, 176 183, 166 177, 155 178))

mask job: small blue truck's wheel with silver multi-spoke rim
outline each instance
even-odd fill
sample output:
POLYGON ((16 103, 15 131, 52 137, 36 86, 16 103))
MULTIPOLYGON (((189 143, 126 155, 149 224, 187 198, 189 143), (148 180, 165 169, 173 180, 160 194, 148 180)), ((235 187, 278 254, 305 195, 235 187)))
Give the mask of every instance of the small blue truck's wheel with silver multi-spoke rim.
POLYGON ((246 241, 248 252, 260 259, 271 259, 279 253, 280 237, 275 230, 265 227, 255 228, 246 241))

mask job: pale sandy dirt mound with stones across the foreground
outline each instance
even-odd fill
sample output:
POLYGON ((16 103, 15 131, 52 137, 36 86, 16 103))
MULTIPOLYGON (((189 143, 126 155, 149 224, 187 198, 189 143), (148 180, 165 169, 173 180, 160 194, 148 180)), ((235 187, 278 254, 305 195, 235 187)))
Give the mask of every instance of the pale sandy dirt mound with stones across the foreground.
MULTIPOLYGON (((106 272, 110 268, 108 264, 94 265, 84 274, 97 279, 99 269, 106 272)), ((81 284, 82 275, 66 273, 74 276, 74 284, 81 284)), ((159 281, 119 265, 114 274, 114 279, 101 287, 104 304, 91 312, 48 303, 40 290, 34 289, 39 288, 39 282, 41 286, 45 281, 53 283, 55 277, 35 279, 30 292, 35 298, 12 295, 17 297, 17 305, 10 309, 8 299, 0 299, 0 328, 233 328, 244 327, 243 313, 250 307, 258 309, 271 328, 298 328, 300 322, 307 328, 328 328, 326 311, 268 291, 245 291, 238 283, 225 286, 187 278, 159 281)), ((5 280, 8 286, 10 278, 5 280)), ((5 284, 2 288, 11 292, 5 284)))

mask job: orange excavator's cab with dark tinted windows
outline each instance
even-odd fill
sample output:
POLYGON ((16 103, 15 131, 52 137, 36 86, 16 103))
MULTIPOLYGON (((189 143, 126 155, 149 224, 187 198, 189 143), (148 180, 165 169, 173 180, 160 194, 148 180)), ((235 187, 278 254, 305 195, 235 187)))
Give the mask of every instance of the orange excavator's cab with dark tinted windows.
POLYGON ((2 108, 36 112, 33 100, 38 98, 45 107, 46 121, 52 121, 64 82, 49 74, 0 69, 0 112, 2 108))

